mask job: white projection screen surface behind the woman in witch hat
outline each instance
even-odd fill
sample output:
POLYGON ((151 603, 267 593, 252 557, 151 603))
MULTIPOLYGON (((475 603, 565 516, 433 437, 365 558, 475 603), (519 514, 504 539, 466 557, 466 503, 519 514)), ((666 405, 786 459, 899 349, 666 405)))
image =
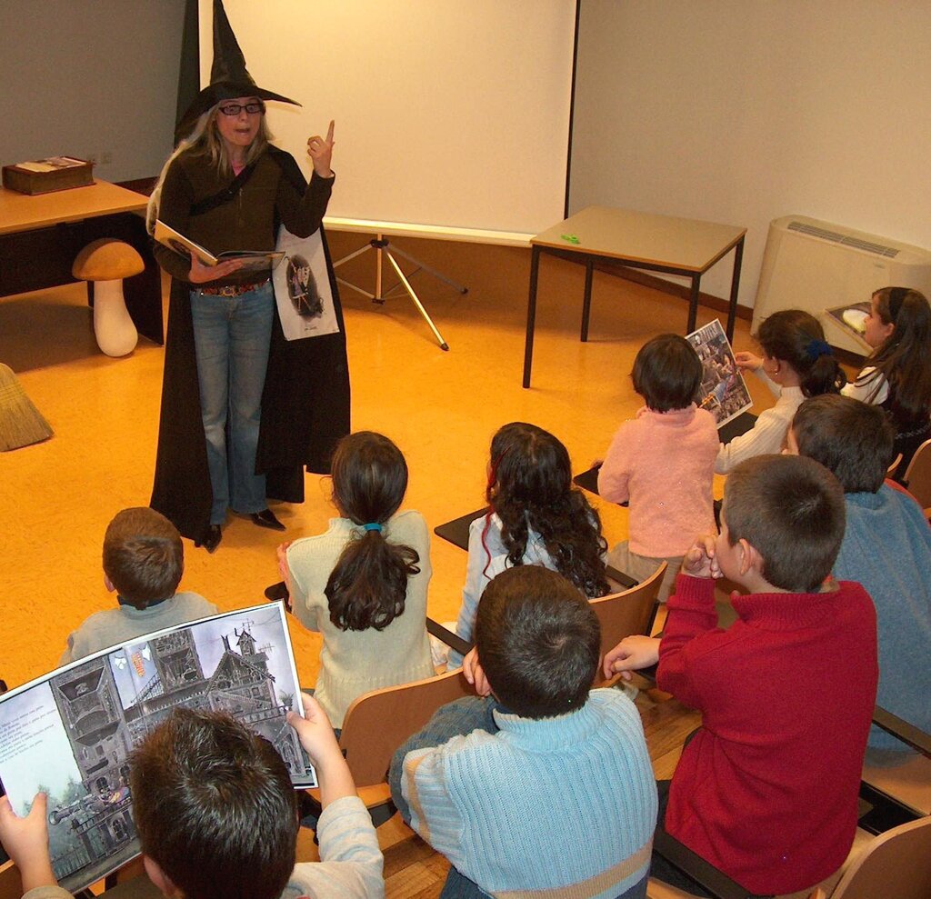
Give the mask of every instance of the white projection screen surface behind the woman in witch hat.
MULTIPOLYGON (((201 79, 213 58, 200 0, 201 79)), ((336 121, 331 216, 536 234, 562 218, 572 96, 570 0, 224 0, 309 175, 336 121)))

